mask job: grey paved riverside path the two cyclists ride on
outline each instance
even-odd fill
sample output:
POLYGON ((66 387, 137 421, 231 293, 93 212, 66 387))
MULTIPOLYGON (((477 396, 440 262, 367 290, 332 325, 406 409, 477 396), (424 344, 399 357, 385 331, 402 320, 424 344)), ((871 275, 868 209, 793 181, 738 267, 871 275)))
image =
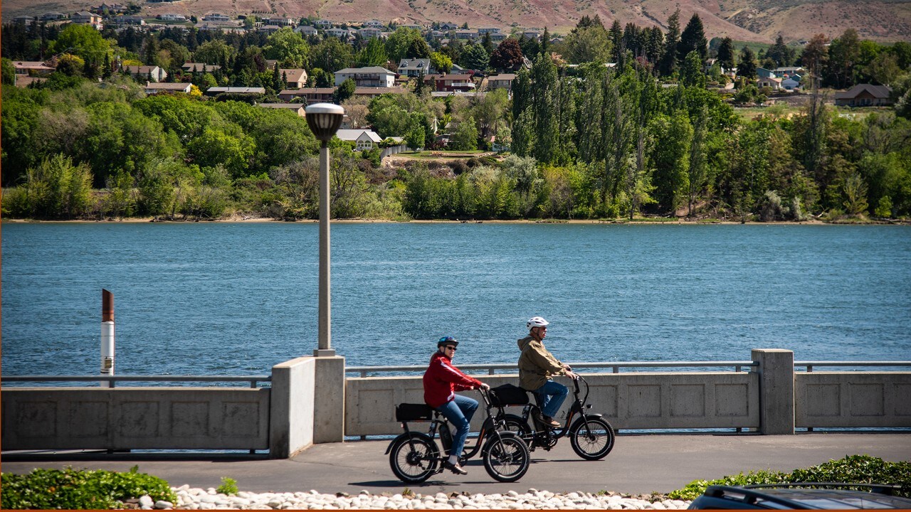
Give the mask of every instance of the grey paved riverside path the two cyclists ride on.
MULTIPOLYGON (((469 440, 473 443, 473 440, 469 440)), ((4 453, 2 470, 27 473, 34 467, 139 471, 168 480, 171 486, 220 485, 222 476, 251 492, 309 491, 321 493, 398 493, 406 486, 389 469, 384 451, 388 441, 354 441, 314 445, 286 460, 263 456, 199 456, 105 453, 4 453)), ((599 490, 630 494, 670 492, 698 478, 736 475, 756 469, 792 470, 814 466, 846 455, 866 454, 886 460, 911 460, 911 433, 907 434, 799 434, 799 435, 620 435, 613 451, 601 461, 588 462, 573 453, 567 439, 550 452, 532 452, 532 466, 514 484, 490 478, 479 460, 468 462, 468 475, 441 473, 415 492, 504 493, 529 488, 552 492, 599 490)))

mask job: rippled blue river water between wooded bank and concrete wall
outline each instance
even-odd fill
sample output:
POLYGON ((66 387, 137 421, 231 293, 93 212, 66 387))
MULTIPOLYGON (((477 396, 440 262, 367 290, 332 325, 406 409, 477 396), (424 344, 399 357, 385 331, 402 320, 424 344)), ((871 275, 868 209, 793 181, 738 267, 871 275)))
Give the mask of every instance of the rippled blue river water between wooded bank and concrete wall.
MULTIPOLYGON (((911 229, 335 223, 348 365, 514 363, 525 323, 567 362, 911 359, 911 229)), ((316 223, 4 223, 2 371, 269 374, 317 345, 316 223)))

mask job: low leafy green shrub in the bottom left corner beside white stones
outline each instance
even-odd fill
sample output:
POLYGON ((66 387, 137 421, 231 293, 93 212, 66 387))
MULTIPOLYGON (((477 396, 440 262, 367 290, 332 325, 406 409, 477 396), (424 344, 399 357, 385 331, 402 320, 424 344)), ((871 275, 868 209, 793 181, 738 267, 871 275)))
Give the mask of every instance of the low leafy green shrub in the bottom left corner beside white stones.
POLYGON ((73 469, 35 469, 27 475, 4 473, 0 507, 15 508, 117 508, 122 501, 145 495, 153 500, 177 503, 168 482, 158 476, 73 469))

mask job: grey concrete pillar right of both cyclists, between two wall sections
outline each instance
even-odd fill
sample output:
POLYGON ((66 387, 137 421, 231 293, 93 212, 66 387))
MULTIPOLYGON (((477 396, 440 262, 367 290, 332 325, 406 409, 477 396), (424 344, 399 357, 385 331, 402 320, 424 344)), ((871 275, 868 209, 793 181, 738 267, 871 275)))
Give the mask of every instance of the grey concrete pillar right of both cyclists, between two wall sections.
POLYGON ((759 363, 759 415, 762 434, 794 433, 794 353, 753 349, 759 363))

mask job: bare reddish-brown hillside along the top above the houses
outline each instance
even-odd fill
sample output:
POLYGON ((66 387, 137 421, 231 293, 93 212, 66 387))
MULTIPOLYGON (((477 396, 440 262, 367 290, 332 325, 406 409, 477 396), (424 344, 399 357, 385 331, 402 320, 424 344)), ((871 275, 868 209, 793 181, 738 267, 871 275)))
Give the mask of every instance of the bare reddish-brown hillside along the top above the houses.
MULTIPOLYGON (((49 11, 75 12, 101 0, 5 0, 2 14, 41 15, 49 11)), ((143 4, 143 14, 204 15, 272 14, 300 17, 317 15, 338 22, 426 24, 433 21, 467 23, 472 27, 513 26, 544 28, 566 33, 583 15, 599 15, 605 25, 664 26, 681 9, 681 23, 700 15, 706 34, 738 41, 769 43, 781 34, 786 41, 809 39, 820 32, 840 35, 855 28, 862 38, 878 41, 911 40, 911 0, 179 0, 143 4)))

